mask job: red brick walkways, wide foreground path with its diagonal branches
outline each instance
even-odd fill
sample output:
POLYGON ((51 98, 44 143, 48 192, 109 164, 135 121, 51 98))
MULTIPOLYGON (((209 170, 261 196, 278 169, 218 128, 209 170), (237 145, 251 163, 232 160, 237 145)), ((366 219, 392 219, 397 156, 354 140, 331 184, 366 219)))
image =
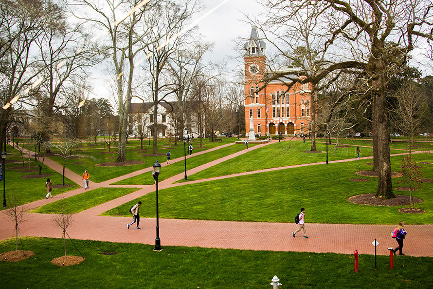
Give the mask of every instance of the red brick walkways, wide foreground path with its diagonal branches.
MULTIPOLYGON (((212 150, 221 149, 229 145, 217 147, 212 150)), ((267 144, 260 144, 249 149, 252 151, 267 144)), ((204 154, 210 150, 203 151, 198 154, 204 154)), ((248 152, 249 152, 248 151, 248 152)), ((204 170, 216 163, 226 159, 245 154, 243 150, 235 154, 228 155, 216 161, 199 166, 188 171, 191 175, 198 171, 204 170)), ((365 157, 361 159, 367 159, 365 157)), ((182 161, 183 157, 174 159, 171 162, 182 161)), ((351 161, 340 160, 333 162, 351 161)), ((62 166, 50 159, 46 159, 45 163, 61 173, 62 166)), ((306 164, 318 165, 325 162, 306 164)), ((330 162, 332 163, 332 162, 330 162)), ((297 165, 289 167, 300 167, 306 165, 297 165)), ((212 179, 221 179, 233 177, 235 175, 244 175, 251 173, 261 173, 271 170, 281 170, 289 167, 272 168, 267 170, 238 173, 230 176, 221 176, 212 179)), ((74 221, 68 228, 68 233, 75 239, 90 239, 110 242, 125 242, 125 243, 143 243, 155 244, 155 219, 141 218, 141 231, 133 228, 127 230, 126 223, 130 221, 125 217, 109 217, 98 216, 98 214, 109 209, 115 208, 130 200, 140 197, 146 193, 153 192, 154 186, 113 186, 109 185, 115 181, 125 179, 137 174, 150 172, 152 168, 147 168, 134 173, 117 177, 101 183, 90 182, 90 190, 100 187, 138 187, 140 190, 128 195, 111 200, 102 205, 93 207, 89 210, 77 213, 74 215, 74 221)), ((82 185, 81 176, 66 170, 66 177, 72 181, 82 185)), ((172 184, 174 181, 183 178, 183 172, 169 179, 159 182, 159 189, 168 188, 171 186, 182 186, 189 183, 196 183, 206 180, 197 180, 179 184, 172 184)), ((65 197, 72 196, 78 193, 83 193, 84 189, 80 188, 68 193, 64 193, 65 197)), ((27 204, 28 209, 37 208, 47 202, 52 202, 58 199, 58 196, 52 199, 42 199, 30 204, 27 204)), ((4 218, 4 211, 0 212, 0 240, 13 236, 13 224, 4 218)), ((54 227, 52 214, 34 214, 26 213, 27 221, 20 225, 20 235, 24 236, 41 236, 41 237, 61 237, 61 230, 54 227)), ((160 219, 160 238, 163 246, 198 246, 206 248, 232 248, 244 250, 275 250, 275 251, 308 251, 308 252, 335 252, 352 254, 357 249, 361 254, 374 254, 374 246, 372 242, 376 238, 379 242, 378 254, 389 254, 387 247, 395 247, 397 242, 390 237, 391 231, 395 225, 350 225, 350 224, 310 224, 308 223, 307 215, 307 235, 308 239, 302 238, 302 234, 298 234, 296 238, 291 236, 291 232, 297 227, 294 223, 252 223, 252 222, 223 222, 223 221, 203 221, 203 220, 178 220, 178 219, 160 219)), ((433 246, 433 225, 406 225, 408 231, 407 238, 404 243, 404 252, 412 256, 428 256, 433 257, 433 251, 429 250, 433 246)))

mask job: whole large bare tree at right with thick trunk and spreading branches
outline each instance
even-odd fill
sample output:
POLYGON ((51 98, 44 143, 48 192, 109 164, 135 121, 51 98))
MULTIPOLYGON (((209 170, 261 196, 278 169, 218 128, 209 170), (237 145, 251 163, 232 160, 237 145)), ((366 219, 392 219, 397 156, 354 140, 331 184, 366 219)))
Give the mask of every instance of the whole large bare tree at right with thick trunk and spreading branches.
MULTIPOLYGON (((267 4, 271 12, 277 13, 266 19, 279 15, 278 25, 292 23, 296 17, 303 22, 312 23, 309 39, 320 39, 321 45, 315 47, 327 51, 325 67, 317 75, 308 76, 306 81, 319 83, 331 72, 339 75, 340 72, 352 70, 365 74, 368 85, 366 93, 372 97, 374 157, 379 164, 376 195, 385 199, 393 198, 388 144, 387 81, 405 64, 408 54, 420 38, 433 39, 433 16, 430 13, 432 3, 405 0, 269 0, 267 4)), ((291 40, 291 34, 286 36, 291 40)), ((283 37, 278 40, 281 39, 283 37)), ((300 38, 296 37, 290 44, 296 44, 298 39, 300 38)), ((284 51, 284 47, 280 51, 284 51)), ((314 49, 307 48, 307 52, 312 51, 314 49)), ((311 66, 311 63, 308 65, 311 66)), ((271 74, 269 79, 264 79, 264 83, 266 85, 270 80, 282 76, 278 73, 271 74)))

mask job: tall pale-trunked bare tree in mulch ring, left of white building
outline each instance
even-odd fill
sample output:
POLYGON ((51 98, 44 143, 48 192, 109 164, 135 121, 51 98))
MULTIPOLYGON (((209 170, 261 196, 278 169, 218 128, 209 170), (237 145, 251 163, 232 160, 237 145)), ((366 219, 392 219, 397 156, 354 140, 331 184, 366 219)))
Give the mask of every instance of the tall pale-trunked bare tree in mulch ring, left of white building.
POLYGON ((115 75, 110 83, 113 84, 119 113, 117 162, 126 161, 126 130, 135 85, 135 68, 144 60, 146 47, 160 41, 160 38, 149 37, 149 34, 157 27, 157 19, 152 13, 154 10, 161 10, 162 3, 162 0, 74 0, 70 5, 70 11, 75 17, 94 23, 101 34, 103 31, 108 32, 110 43, 107 43, 106 51, 112 59, 112 71, 115 75), (76 14, 74 7, 85 7, 88 13, 83 13, 80 9, 80 14, 76 14), (126 16, 125 11, 128 11, 126 16))

